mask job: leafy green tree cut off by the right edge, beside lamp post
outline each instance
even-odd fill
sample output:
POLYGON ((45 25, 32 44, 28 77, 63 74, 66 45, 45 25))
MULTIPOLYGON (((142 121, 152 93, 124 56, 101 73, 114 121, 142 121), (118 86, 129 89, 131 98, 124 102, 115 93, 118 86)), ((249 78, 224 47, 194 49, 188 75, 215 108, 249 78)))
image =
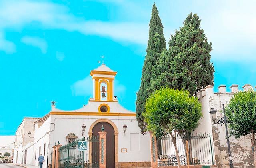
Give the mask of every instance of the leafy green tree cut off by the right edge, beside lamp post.
POLYGON ((238 92, 231 98, 226 107, 229 128, 236 138, 251 136, 251 144, 254 155, 254 167, 256 167, 256 92, 238 92))

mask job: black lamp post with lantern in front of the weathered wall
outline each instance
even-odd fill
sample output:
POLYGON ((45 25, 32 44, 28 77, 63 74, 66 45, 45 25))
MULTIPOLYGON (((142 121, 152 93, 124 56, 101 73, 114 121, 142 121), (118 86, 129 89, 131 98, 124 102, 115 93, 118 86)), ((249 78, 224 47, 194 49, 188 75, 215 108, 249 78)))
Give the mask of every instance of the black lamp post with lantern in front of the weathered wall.
POLYGON ((228 126, 227 126, 228 121, 227 121, 227 117, 226 117, 226 114, 225 114, 224 104, 222 104, 222 106, 223 106, 222 108, 223 108, 224 116, 222 118, 220 118, 220 120, 218 120, 217 122, 216 122, 216 113, 217 113, 217 111, 214 110, 213 108, 211 108, 209 113, 211 115, 211 119, 214 122, 214 124, 220 124, 220 125, 225 124, 226 138, 227 138, 227 144, 228 144, 228 154, 229 154, 229 165, 230 165, 230 168, 234 168, 233 167, 233 162, 232 162, 231 151, 230 151, 229 138, 228 138, 228 126))

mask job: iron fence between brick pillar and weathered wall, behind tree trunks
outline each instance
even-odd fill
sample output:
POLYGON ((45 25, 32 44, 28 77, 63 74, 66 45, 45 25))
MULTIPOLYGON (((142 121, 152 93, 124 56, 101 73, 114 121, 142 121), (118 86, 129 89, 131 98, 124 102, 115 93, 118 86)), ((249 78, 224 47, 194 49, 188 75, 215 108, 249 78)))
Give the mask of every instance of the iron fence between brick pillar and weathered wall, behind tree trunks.
MULTIPOLYGON (((190 161, 190 164, 214 164, 212 140, 210 134, 191 134, 186 138, 191 140, 190 152, 192 152, 192 160, 190 161)), ((184 148, 184 144, 181 137, 176 137, 176 144, 180 164, 187 165, 188 161, 186 157, 186 148, 184 148)), ((170 135, 161 137, 161 150, 161 154, 158 155, 158 166, 178 165, 178 159, 176 157, 174 144, 172 142, 172 138, 170 135)))

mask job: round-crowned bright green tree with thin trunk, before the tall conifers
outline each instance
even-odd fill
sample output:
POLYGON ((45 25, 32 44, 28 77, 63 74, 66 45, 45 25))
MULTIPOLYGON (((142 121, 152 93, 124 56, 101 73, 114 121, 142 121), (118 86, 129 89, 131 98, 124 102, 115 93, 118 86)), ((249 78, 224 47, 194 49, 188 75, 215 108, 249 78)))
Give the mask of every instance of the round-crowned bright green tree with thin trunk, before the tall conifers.
MULTIPOLYGON (((179 158, 176 135, 181 130, 192 131, 198 126, 202 117, 201 104, 188 91, 161 88, 146 100, 146 111, 143 113, 147 129, 156 137, 170 134, 179 158)), ((180 160, 178 159, 180 167, 180 160)))

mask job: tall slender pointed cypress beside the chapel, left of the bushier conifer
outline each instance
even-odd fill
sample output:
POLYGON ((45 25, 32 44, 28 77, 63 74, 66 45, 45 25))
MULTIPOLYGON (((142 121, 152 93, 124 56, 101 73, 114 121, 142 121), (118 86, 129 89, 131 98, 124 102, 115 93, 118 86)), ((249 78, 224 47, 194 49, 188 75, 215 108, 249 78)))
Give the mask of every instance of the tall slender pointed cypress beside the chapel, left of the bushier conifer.
POLYGON ((163 25, 158 15, 156 5, 153 5, 151 20, 149 23, 149 39, 147 55, 142 69, 140 89, 137 92, 136 116, 141 132, 146 131, 146 125, 142 112, 145 110, 146 98, 155 90, 151 88, 152 80, 158 76, 156 62, 159 60, 163 49, 166 49, 166 42, 163 34, 163 25))

